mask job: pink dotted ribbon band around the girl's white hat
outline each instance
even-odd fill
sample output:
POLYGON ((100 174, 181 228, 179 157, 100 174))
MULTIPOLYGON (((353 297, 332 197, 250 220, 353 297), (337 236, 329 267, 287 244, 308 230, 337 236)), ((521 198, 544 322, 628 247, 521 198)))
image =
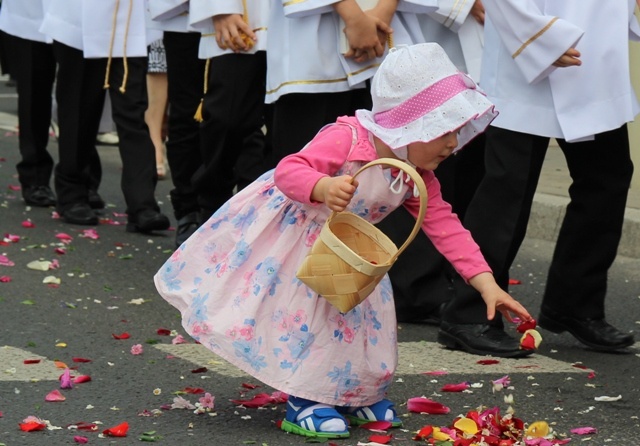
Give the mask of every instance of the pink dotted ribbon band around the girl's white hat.
POLYGON ((465 74, 456 73, 440 79, 400 105, 374 115, 376 124, 398 128, 440 107, 458 93, 475 89, 475 83, 465 74))

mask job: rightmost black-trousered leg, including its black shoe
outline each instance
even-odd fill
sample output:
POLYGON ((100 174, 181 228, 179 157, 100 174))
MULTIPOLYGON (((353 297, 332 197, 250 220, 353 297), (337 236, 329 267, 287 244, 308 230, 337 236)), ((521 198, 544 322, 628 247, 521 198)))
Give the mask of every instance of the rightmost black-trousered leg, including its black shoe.
POLYGON ((616 350, 633 336, 607 324, 607 274, 622 234, 633 175, 626 125, 593 141, 559 141, 573 182, 549 268, 540 325, 584 344, 616 350))

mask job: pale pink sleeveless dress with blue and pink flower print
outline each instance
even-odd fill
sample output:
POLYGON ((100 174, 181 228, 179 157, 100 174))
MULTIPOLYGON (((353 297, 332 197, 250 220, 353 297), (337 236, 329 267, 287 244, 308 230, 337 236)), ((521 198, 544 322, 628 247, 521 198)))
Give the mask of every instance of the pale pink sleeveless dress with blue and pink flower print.
MULTIPOLYGON (((336 175, 364 164, 347 161, 336 175)), ((350 210, 380 221, 413 193, 412 182, 397 189, 394 179, 390 169, 366 169, 350 210)), ((193 338, 260 381, 313 401, 365 406, 384 398, 397 365, 391 284, 385 277, 342 314, 296 278, 329 213, 289 199, 267 172, 175 251, 155 283, 193 338)))

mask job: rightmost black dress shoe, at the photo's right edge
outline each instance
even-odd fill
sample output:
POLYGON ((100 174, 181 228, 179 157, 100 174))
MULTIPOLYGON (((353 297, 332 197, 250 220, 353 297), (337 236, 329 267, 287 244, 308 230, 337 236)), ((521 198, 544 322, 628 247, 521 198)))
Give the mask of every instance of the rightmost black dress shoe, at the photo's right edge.
POLYGON ((604 319, 577 319, 542 307, 538 325, 553 333, 568 331, 594 350, 613 352, 633 345, 633 335, 623 333, 604 319))

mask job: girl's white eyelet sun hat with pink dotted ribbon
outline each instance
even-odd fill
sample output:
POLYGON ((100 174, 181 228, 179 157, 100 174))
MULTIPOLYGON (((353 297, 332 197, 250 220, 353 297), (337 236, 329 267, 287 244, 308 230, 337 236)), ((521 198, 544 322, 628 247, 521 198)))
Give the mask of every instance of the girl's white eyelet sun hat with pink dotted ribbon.
POLYGON ((392 48, 371 82, 373 110, 360 124, 392 150, 458 130, 459 150, 498 115, 476 83, 437 43, 392 48))

